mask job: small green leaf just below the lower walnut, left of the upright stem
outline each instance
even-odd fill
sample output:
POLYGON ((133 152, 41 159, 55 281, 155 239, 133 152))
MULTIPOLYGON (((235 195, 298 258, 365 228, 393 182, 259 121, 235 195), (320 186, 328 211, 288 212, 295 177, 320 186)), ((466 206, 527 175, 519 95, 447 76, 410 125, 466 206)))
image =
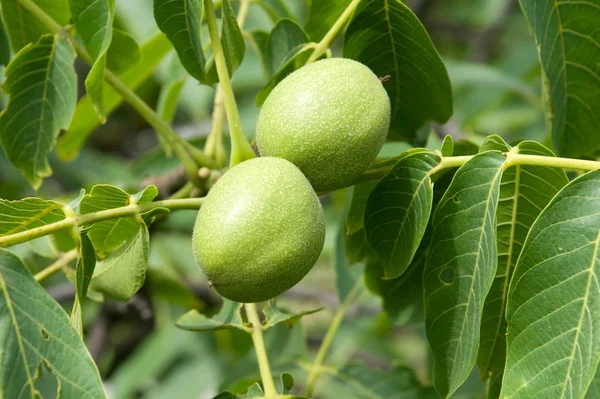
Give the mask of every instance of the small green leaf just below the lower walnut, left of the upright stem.
POLYGON ((232 328, 246 331, 247 327, 240 314, 241 309, 241 303, 224 299, 221 310, 213 317, 206 317, 194 309, 181 316, 176 324, 177 327, 190 331, 217 331, 232 328))

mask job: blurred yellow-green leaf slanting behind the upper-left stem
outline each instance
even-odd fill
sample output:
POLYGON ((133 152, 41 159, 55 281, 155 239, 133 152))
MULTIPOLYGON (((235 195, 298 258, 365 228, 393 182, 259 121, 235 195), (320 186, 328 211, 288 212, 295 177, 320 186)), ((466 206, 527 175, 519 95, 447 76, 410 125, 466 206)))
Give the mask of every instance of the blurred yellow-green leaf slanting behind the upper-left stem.
MULTIPOLYGON (((151 76, 171 48, 171 43, 165 35, 161 33, 154 36, 142 45, 139 62, 120 74, 119 79, 127 87, 135 90, 151 76)), ((123 98, 107 85, 104 86, 104 91, 104 111, 106 115, 110 115, 123 102, 123 98)), ((69 128, 58 140, 56 150, 59 158, 63 161, 73 160, 79 154, 87 138, 99 125, 100 119, 95 114, 89 97, 83 96, 77 103, 69 128)))

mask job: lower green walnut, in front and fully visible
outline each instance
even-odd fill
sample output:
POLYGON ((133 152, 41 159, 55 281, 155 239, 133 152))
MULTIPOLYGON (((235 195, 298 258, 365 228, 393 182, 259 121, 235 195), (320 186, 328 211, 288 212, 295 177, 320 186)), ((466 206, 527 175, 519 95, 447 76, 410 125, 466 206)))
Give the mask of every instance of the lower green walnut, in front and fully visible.
POLYGON ((296 285, 325 240, 310 183, 281 158, 254 158, 225 173, 194 227, 194 256, 210 284, 236 302, 262 302, 296 285))

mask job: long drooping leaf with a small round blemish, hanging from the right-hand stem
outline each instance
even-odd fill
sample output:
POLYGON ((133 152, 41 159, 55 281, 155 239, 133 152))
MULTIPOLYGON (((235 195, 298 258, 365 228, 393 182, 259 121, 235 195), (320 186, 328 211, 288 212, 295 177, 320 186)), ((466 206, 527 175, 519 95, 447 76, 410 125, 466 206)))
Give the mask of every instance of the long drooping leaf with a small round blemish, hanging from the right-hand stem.
POLYGON ((444 397, 467 379, 477 358, 484 299, 496 275, 496 209, 505 157, 475 155, 454 175, 433 215, 423 277, 433 382, 444 397))

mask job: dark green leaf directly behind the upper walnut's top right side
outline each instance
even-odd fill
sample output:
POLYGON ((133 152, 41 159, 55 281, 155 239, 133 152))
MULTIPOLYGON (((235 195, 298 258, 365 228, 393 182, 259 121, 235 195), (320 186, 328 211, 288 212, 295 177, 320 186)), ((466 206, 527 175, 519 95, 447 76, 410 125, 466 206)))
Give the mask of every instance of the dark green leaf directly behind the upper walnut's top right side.
POLYGON ((383 77, 392 105, 392 138, 413 139, 429 120, 452 115, 446 68, 427 31, 400 0, 363 0, 346 30, 344 57, 383 77))

